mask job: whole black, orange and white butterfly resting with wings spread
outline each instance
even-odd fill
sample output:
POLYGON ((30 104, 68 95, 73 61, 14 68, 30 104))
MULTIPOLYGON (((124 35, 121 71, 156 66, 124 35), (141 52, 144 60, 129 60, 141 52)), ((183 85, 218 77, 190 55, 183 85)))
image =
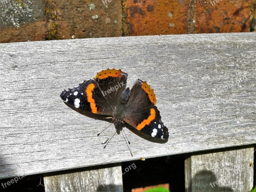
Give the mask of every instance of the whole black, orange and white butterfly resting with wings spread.
POLYGON ((106 69, 73 89, 64 90, 65 102, 95 114, 112 117, 116 130, 123 122, 155 138, 168 139, 168 129, 161 121, 153 89, 140 79, 132 89, 125 88, 127 73, 106 69))

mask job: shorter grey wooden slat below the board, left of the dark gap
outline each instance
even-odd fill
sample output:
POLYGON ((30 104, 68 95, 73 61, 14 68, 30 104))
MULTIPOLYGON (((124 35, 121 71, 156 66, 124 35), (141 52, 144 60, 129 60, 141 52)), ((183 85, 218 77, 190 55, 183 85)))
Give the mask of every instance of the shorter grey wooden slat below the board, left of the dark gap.
POLYGON ((121 164, 44 174, 45 192, 123 191, 121 164))

